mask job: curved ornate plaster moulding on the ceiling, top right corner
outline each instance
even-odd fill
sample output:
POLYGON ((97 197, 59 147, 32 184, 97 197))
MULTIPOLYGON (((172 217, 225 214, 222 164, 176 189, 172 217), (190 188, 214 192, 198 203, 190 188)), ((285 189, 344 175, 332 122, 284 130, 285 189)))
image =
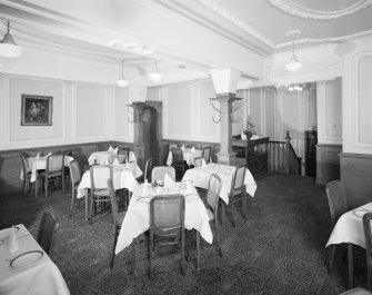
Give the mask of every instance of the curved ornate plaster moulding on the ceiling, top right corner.
POLYGON ((359 0, 356 3, 333 11, 313 10, 295 3, 293 0, 267 0, 272 6, 279 8, 285 13, 311 20, 334 20, 338 18, 353 14, 372 4, 372 0, 359 0))

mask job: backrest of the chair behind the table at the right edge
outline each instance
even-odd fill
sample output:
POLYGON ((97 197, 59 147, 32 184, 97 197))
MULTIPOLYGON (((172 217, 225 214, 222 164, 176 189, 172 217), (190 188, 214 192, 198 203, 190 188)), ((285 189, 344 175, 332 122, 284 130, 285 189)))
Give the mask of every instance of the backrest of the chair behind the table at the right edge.
POLYGON ((333 180, 325 186, 328 204, 330 206, 333 226, 340 216, 349 210, 348 198, 340 180, 333 180))

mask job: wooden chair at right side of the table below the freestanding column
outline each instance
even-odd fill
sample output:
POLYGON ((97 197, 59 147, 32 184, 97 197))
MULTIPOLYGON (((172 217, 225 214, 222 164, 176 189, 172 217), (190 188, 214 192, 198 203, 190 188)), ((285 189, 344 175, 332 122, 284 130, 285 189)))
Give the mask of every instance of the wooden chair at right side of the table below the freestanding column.
MULTIPOLYGON (((235 227, 235 218, 234 218, 234 203, 241 201, 242 204, 242 215, 244 219, 247 218, 247 193, 245 193, 245 164, 240 165, 235 168, 235 171, 232 176, 231 189, 229 193, 229 207, 230 207, 230 218, 231 224, 235 227)), ((222 224, 224 219, 224 205, 222 205, 222 224)))

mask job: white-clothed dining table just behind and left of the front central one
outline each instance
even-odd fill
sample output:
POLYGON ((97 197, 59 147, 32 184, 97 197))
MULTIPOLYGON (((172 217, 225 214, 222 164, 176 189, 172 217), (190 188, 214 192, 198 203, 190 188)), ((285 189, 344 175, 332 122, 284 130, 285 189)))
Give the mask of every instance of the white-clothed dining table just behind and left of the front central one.
MULTIPOLYGON (((122 189, 127 188, 129 191, 134 191, 134 189, 139 186, 135 178, 143 175, 141 168, 134 163, 127 164, 113 164, 112 166, 112 184, 113 188, 122 189)), ((95 179, 97 187, 107 188, 107 179, 108 175, 99 175, 95 179)), ((91 188, 91 179, 90 179, 90 170, 87 170, 80 180, 78 186, 77 198, 86 197, 86 219, 88 219, 88 189, 91 188)))

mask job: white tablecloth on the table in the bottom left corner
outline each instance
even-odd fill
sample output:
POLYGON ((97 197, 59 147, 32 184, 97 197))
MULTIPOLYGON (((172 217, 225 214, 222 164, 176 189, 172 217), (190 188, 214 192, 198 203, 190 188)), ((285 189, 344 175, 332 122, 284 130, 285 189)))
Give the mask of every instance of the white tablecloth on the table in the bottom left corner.
POLYGON ((0 245, 0 294, 46 294, 66 295, 70 294, 66 282, 49 256, 42 250, 32 235, 23 225, 19 225, 17 232, 19 250, 10 253, 8 243, 0 245), (11 267, 8 259, 12 259, 20 254, 40 250, 43 256, 38 262, 21 268, 11 267))

